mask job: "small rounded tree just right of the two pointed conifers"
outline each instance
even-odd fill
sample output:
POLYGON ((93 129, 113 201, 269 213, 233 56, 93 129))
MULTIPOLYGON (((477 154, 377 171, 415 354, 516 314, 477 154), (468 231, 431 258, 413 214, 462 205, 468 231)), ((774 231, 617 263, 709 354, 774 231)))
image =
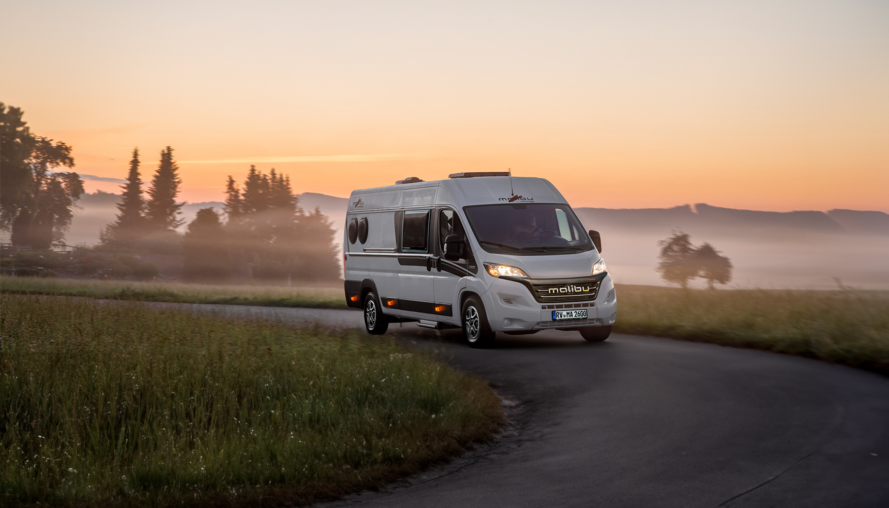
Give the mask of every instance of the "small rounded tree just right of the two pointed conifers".
POLYGON ((185 254, 184 276, 188 280, 224 280, 228 272, 228 248, 220 216, 211 208, 201 208, 188 224, 182 241, 185 254))

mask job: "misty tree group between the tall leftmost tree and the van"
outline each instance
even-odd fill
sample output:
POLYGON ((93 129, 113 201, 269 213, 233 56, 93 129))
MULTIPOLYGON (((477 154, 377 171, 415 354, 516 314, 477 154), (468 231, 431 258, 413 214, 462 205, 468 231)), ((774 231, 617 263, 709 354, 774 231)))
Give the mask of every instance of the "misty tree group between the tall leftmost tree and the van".
POLYGON ((184 277, 194 281, 339 278, 332 223, 318 210, 300 209, 288 175, 274 168, 262 173, 251 165, 242 186, 229 175, 222 214, 212 207, 198 210, 180 238, 175 231, 182 225, 182 203, 176 202, 178 171, 172 148, 167 147, 144 198, 139 150, 133 149, 116 221, 103 231, 101 246, 181 253, 184 277))

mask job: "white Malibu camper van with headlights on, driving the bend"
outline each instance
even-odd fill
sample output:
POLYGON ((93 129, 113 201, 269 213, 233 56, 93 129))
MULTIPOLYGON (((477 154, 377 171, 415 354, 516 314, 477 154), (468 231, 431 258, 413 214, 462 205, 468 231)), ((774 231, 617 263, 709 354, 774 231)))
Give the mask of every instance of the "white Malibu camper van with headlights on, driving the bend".
POLYGON ((461 327, 472 347, 549 328, 598 342, 617 319, 599 234, 542 178, 455 173, 356 190, 344 236, 346 301, 371 334, 417 321, 461 327))

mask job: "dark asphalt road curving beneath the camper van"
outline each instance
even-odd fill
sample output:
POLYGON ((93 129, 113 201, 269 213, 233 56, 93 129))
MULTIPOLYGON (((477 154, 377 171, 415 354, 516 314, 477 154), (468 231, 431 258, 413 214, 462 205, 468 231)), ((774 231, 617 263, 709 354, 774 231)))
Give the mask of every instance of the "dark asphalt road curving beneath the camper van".
MULTIPOLYGON (((220 311, 361 326, 349 310, 220 311)), ((633 335, 499 334, 481 351, 459 331, 389 335, 488 380, 509 425, 452 464, 319 506, 889 508, 885 376, 633 335)))

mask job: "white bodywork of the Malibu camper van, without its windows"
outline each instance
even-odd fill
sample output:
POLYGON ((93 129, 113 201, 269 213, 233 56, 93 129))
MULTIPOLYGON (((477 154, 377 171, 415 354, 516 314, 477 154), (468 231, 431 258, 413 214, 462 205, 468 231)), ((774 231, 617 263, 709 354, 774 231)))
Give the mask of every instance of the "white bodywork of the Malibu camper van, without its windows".
MULTIPOLYGON (((535 255, 495 254, 483 248, 464 208, 507 203, 557 204, 570 209, 562 194, 541 178, 454 178, 353 191, 343 230, 348 304, 361 308, 364 295, 373 291, 382 303, 381 311, 390 318, 460 327, 463 299, 467 294, 477 294, 494 331, 613 324, 616 295, 612 278, 607 272, 591 275, 593 264, 600 259, 595 248, 535 255), (455 214, 465 230, 470 260, 445 260, 438 229, 443 209, 455 214), (424 211, 429 211, 425 251, 406 250, 400 229, 404 214, 416 220, 424 211), (363 219, 367 223, 366 239, 350 241, 349 224, 363 219), (485 270, 485 263, 516 267, 524 270, 528 278, 493 277, 485 270), (595 290, 589 289, 594 285, 595 290), (588 288, 592 296, 584 298, 586 293, 582 291, 565 293, 577 287, 588 288), (554 289, 563 294, 553 293, 554 289), (394 303, 389 306, 388 302, 394 303), (585 309, 587 319, 554 321, 556 309, 585 309)), ((421 242, 421 238, 417 241, 421 242)))

